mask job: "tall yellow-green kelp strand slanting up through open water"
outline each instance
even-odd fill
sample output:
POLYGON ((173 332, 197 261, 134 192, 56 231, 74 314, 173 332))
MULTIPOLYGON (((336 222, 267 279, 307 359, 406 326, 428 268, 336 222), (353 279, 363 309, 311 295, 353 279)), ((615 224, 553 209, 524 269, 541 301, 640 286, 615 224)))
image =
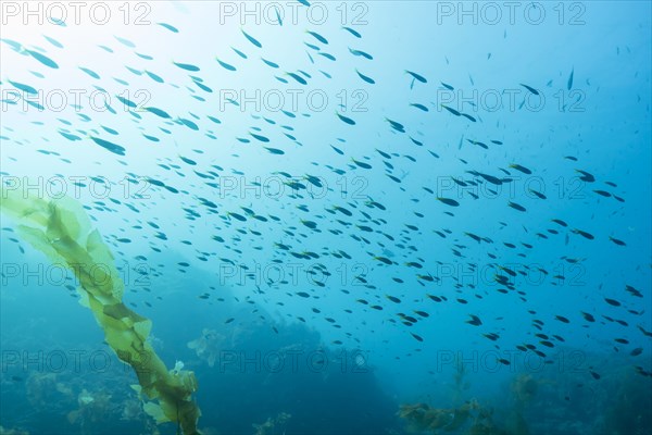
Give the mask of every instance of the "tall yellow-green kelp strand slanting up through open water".
POLYGON ((82 302, 104 331, 117 357, 131 365, 140 391, 154 402, 146 411, 159 423, 177 422, 186 435, 199 434, 201 415, 192 400, 198 384, 195 373, 167 370, 147 338, 152 324, 127 308, 110 249, 102 241, 82 204, 68 197, 46 200, 22 190, 1 187, 0 210, 11 216, 18 235, 50 261, 67 266, 79 282, 82 302))

